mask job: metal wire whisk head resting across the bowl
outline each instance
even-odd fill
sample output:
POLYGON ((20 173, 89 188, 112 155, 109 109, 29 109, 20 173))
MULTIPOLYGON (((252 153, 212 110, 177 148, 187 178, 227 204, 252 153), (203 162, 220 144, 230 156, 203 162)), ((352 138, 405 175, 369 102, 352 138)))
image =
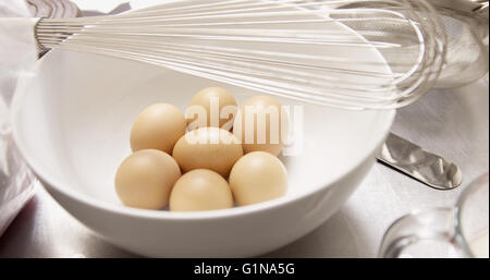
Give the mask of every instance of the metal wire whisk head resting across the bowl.
POLYGON ((432 87, 445 53, 444 29, 424 0, 181 0, 119 15, 41 19, 36 37, 44 48, 344 109, 414 101, 432 87))

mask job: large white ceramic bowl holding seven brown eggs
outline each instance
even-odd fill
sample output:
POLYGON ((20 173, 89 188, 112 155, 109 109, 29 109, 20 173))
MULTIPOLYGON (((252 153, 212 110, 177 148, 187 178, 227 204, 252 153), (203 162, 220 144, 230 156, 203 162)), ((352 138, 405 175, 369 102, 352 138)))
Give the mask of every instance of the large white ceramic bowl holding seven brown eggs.
MULTIPOLYGON (((358 56, 382 62, 373 50, 358 56)), ((238 102, 257 94, 144 63, 51 51, 38 75, 19 85, 14 139, 54 199, 108 242, 154 257, 244 257, 283 246, 335 212, 371 168, 395 114, 304 105, 304 150, 281 158, 289 191, 280 199, 185 214, 123 206, 113 178, 131 153, 138 112, 154 102, 184 110, 195 93, 216 85, 238 102)))

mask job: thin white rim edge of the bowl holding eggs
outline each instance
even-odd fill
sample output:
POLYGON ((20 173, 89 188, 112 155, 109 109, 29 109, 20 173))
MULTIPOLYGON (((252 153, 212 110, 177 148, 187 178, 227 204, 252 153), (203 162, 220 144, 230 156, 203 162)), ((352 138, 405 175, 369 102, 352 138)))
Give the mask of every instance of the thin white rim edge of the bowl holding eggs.
MULTIPOLYGON (((68 50, 63 50, 68 51, 68 50)), ((52 50, 48 52, 46 56, 44 56, 39 62, 36 65, 36 69, 41 68, 46 63, 49 63, 51 57, 57 56, 59 50, 52 50)), ((74 52, 74 51, 69 51, 74 52)), ((99 56, 99 54, 93 54, 89 56, 99 56)), ((115 58, 113 58, 115 59, 115 58)), ((75 187, 72 187, 72 184, 62 184, 54 178, 49 178, 49 172, 46 172, 40 165, 36 160, 34 160, 34 156, 26 153, 28 149, 26 149, 24 142, 22 141, 22 137, 20 136, 21 133, 19 131, 19 120, 22 118, 17 117, 20 113, 19 106, 22 102, 23 97, 27 94, 27 88, 29 86, 29 78, 33 78, 32 76, 25 76, 19 80, 17 88, 15 90, 15 95, 12 100, 12 110, 11 110, 11 120, 12 120, 12 136, 13 139, 19 148, 19 151, 22 156, 22 158, 26 161, 26 163, 30 167, 30 169, 34 171, 34 173, 39 178, 39 181, 42 182, 42 185, 45 188, 47 188, 49 192, 56 191, 57 193, 60 193, 70 199, 76 200, 78 203, 88 205, 93 208, 97 208, 99 210, 103 211, 110 211, 113 214, 119 215, 125 215, 125 216, 132 216, 132 217, 138 217, 138 218, 147 218, 147 219, 168 219, 168 220, 205 220, 205 219, 220 219, 220 218, 232 218, 237 216, 244 216, 249 215, 258 211, 265 211, 265 210, 271 210, 274 208, 283 207, 285 205, 292 204, 294 202, 304 199, 305 197, 313 196, 317 193, 320 193, 324 191, 326 188, 329 188, 332 184, 342 181, 344 178, 348 176, 353 171, 355 171, 357 168, 359 168, 362 165, 364 165, 367 160, 370 159, 370 157, 375 156, 373 154, 377 151, 378 147, 382 145, 385 137, 388 136, 388 133, 390 132, 391 125, 394 121, 396 110, 395 109, 387 109, 387 110, 379 110, 380 113, 384 113, 382 120, 380 121, 380 131, 378 135, 375 136, 375 139, 372 141, 373 145, 370 148, 363 149, 363 154, 358 157, 358 160, 355 161, 355 163, 346 167, 344 170, 339 172, 335 176, 330 178, 330 180, 327 180, 326 182, 321 183, 321 185, 315 185, 310 187, 308 191, 301 192, 295 195, 290 196, 283 196, 277 199, 264 202, 260 204, 254 204, 254 205, 247 205, 247 206, 241 206, 241 207, 233 207, 230 209, 219 209, 219 210, 209 210, 209 211, 193 211, 193 212, 179 212, 179 211, 168 211, 168 210, 149 210, 149 209, 139 209, 139 208, 132 208, 124 205, 118 205, 114 203, 101 200, 98 198, 95 198, 88 194, 85 194, 81 191, 76 191, 75 187), (64 185, 64 187, 63 187, 64 185), (50 190, 52 188, 52 190, 50 190)), ((36 78, 36 77, 34 77, 36 78)))

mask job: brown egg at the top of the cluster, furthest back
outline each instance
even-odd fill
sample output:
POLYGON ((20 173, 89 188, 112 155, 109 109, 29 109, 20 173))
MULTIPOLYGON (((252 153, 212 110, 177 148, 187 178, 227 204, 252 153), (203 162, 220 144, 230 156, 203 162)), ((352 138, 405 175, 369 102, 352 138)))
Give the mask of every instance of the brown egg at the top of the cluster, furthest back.
POLYGON ((236 100, 221 87, 207 87, 197 93, 186 110, 189 130, 213 126, 230 131, 237 111, 236 100))

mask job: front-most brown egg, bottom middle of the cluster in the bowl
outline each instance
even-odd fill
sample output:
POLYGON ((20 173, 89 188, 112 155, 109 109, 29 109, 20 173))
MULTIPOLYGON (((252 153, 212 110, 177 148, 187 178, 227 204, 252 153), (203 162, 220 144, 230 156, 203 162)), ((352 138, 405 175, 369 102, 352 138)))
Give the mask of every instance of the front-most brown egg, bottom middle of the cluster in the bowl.
POLYGON ((206 211, 233 207, 233 195, 220 174, 207 169, 185 173, 170 195, 171 211, 206 211))

